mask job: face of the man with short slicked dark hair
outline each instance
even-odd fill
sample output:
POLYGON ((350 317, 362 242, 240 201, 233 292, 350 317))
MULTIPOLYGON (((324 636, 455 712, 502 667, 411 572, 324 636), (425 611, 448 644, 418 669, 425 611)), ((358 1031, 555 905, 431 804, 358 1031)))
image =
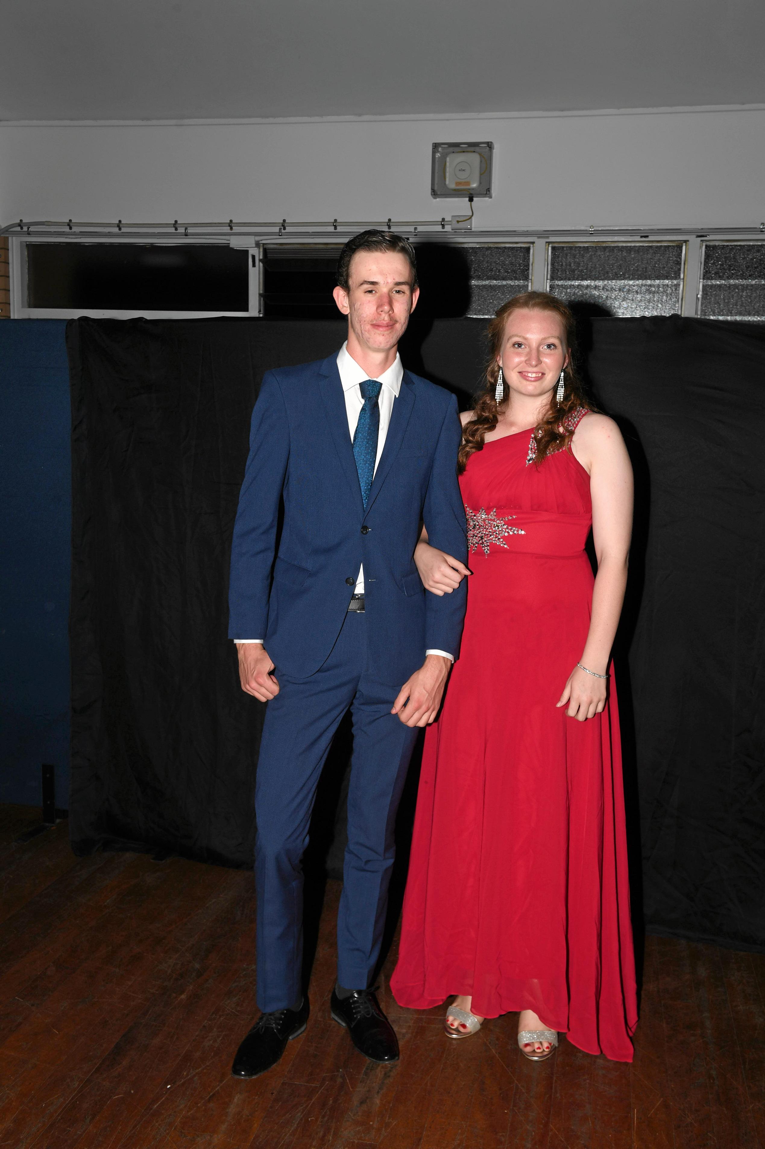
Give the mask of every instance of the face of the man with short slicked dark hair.
POLYGON ((348 291, 335 287, 333 294, 363 347, 391 350, 399 342, 419 296, 418 287, 412 291, 411 279, 404 255, 356 252, 348 269, 348 291))

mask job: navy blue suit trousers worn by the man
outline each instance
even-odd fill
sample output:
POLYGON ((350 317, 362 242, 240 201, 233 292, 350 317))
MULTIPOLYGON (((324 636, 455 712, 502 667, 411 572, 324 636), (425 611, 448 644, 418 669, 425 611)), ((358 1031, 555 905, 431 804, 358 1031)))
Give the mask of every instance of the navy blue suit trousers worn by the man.
POLYGON ((257 1004, 300 1000, 303 873, 308 823, 319 774, 340 719, 350 708, 354 749, 348 789, 348 846, 338 915, 338 981, 365 989, 380 953, 394 828, 418 731, 391 707, 397 691, 369 662, 365 614, 349 612, 332 654, 308 679, 279 677, 268 704, 257 766, 257 1004))

